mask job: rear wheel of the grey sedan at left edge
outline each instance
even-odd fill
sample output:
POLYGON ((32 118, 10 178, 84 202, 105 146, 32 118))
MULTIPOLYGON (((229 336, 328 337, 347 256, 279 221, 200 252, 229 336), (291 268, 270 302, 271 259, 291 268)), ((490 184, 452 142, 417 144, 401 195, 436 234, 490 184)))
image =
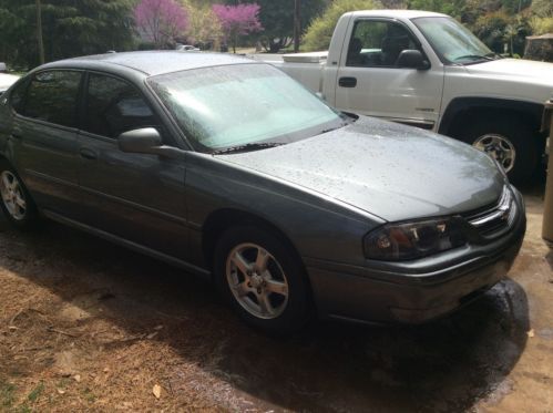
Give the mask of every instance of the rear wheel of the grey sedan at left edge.
POLYGON ((16 169, 6 161, 0 161, 0 206, 13 226, 20 229, 37 227, 37 206, 16 169))

